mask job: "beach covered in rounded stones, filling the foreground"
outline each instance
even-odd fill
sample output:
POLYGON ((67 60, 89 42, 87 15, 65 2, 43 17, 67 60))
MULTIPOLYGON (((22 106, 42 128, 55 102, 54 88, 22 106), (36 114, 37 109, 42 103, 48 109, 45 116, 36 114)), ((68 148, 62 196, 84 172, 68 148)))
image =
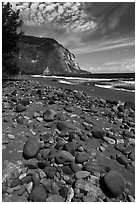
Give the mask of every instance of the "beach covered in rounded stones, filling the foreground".
POLYGON ((28 77, 2 89, 3 202, 135 202, 135 94, 28 77))

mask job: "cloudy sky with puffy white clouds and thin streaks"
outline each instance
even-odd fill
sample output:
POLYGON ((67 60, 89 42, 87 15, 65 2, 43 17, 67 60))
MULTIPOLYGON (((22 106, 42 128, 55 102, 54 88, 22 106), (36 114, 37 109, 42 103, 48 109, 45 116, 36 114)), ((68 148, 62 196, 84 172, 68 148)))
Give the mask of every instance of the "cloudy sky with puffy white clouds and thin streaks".
MULTIPOLYGON (((10 2, 11 3, 11 2, 10 2)), ((135 71, 134 2, 13 2, 26 35, 54 38, 92 73, 135 71)))

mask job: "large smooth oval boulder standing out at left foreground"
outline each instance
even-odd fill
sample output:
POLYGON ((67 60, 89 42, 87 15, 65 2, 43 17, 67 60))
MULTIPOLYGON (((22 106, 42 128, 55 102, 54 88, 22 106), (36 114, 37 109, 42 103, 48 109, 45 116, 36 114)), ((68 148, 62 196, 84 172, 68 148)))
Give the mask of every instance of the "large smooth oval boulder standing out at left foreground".
POLYGON ((31 159, 36 157, 41 147, 38 138, 29 138, 23 147, 23 156, 25 159, 31 159))

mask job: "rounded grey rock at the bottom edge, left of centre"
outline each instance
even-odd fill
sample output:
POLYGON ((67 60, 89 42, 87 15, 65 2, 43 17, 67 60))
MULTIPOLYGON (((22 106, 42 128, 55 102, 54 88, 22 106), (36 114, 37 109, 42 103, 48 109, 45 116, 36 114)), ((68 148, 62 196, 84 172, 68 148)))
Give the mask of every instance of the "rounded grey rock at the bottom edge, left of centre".
POLYGON ((33 202, 46 202, 47 192, 42 184, 36 185, 32 188, 29 195, 29 200, 33 202))

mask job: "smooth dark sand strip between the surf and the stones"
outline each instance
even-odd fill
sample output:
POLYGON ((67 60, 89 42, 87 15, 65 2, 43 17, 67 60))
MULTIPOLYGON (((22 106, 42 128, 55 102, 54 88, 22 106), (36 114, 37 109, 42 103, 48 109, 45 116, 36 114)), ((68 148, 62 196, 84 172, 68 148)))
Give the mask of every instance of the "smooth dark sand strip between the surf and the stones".
POLYGON ((64 88, 64 89, 71 89, 71 90, 78 90, 83 91, 85 94, 96 97, 96 98, 103 98, 103 99, 111 99, 121 102, 132 102, 135 104, 135 93, 134 92, 127 92, 122 90, 112 90, 106 88, 99 88, 96 86, 87 86, 87 85, 73 85, 73 84, 61 84, 57 81, 53 81, 52 79, 48 78, 40 78, 40 77, 28 77, 29 80, 38 81, 40 84, 44 84, 47 86, 53 86, 57 88, 64 88))

